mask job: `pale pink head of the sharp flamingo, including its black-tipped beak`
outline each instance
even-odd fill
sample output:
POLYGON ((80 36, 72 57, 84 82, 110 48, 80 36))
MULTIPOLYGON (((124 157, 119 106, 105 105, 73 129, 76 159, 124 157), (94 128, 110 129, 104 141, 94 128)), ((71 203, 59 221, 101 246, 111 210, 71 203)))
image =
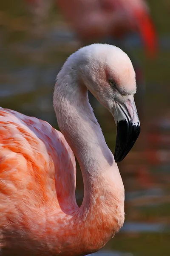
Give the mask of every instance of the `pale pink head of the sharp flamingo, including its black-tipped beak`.
POLYGON ((92 44, 78 50, 79 76, 91 93, 114 116, 117 125, 115 161, 122 161, 140 133, 133 95, 136 78, 130 58, 120 48, 92 44))

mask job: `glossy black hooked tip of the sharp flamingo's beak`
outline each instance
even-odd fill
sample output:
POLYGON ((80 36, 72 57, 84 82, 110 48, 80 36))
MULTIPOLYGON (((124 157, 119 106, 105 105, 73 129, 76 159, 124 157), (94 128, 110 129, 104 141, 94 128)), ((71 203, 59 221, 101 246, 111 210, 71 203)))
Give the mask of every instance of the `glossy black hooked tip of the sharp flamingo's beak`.
POLYGON ((116 147, 114 159, 116 163, 121 162, 129 153, 140 134, 140 125, 121 120, 117 122, 116 147))

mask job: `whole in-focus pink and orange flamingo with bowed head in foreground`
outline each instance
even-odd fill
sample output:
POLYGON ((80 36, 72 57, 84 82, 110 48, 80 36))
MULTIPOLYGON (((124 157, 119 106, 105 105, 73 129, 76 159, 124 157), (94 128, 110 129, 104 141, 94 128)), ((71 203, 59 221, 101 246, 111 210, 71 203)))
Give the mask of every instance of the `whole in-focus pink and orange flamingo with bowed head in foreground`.
POLYGON ((76 256, 102 248, 124 223, 124 186, 116 162, 140 133, 136 79, 120 48, 92 44, 74 52, 57 76, 59 128, 0 108, 0 255, 76 256), (90 90, 114 116, 115 154, 88 101, 90 90), (75 198, 79 162, 84 198, 75 198))

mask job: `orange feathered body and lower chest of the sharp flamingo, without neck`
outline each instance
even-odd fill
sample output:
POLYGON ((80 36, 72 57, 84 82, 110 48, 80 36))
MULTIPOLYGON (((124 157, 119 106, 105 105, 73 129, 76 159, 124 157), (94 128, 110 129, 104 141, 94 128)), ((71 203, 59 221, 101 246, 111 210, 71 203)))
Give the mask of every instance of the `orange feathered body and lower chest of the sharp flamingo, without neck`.
POLYGON ((122 224, 117 225, 110 218, 103 220, 106 227, 108 225, 107 239, 103 241, 103 226, 99 223, 106 216, 95 222, 94 217, 91 218, 100 211, 98 207, 95 212, 91 211, 91 224, 87 223, 79 244, 77 232, 82 230, 80 219, 83 220, 83 215, 76 214, 75 185, 75 157, 63 134, 45 121, 0 108, 2 255, 54 253, 74 256, 82 251, 84 255, 95 252, 94 244, 98 249, 103 247, 115 233, 111 232, 112 226, 119 230, 122 224), (68 225, 70 229, 65 229, 68 225), (70 242, 67 241, 66 246, 67 236, 70 236, 70 242), (87 246, 88 240, 90 244, 87 246), (65 250, 58 248, 56 243, 63 244, 65 250), (68 253, 70 250, 73 253, 68 253))

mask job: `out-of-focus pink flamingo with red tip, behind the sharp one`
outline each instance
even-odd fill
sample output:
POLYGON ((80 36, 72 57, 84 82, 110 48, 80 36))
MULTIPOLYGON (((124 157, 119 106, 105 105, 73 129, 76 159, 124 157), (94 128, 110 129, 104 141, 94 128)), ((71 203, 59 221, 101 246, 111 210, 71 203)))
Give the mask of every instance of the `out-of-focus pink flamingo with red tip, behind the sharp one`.
MULTIPOLYGON (((44 0, 26 0, 31 6, 44 6, 44 0)), ((51 2, 52 3, 52 2, 51 2)), ((144 0, 56 0, 63 16, 83 41, 110 35, 120 38, 134 31, 141 35, 147 53, 157 50, 157 36, 144 0)))

